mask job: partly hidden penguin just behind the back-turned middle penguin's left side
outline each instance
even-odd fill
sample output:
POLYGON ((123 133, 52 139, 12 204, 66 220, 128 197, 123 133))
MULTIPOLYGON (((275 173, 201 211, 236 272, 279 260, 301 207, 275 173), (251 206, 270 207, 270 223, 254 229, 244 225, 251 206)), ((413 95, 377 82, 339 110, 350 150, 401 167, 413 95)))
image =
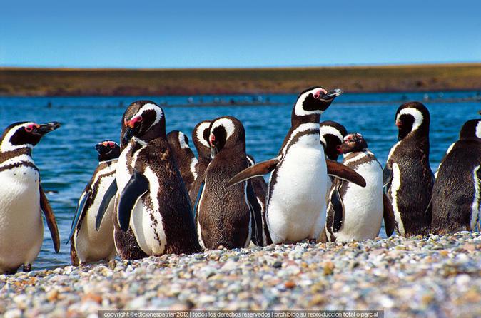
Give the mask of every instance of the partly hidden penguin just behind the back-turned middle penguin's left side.
POLYGON ((196 146, 198 161, 196 165, 197 178, 194 181, 191 190, 189 190, 189 197, 191 197, 192 206, 196 206, 199 189, 204 180, 204 173, 206 173, 207 166, 211 163, 211 145, 209 145, 209 127, 211 120, 203 120, 193 128, 192 141, 196 146))

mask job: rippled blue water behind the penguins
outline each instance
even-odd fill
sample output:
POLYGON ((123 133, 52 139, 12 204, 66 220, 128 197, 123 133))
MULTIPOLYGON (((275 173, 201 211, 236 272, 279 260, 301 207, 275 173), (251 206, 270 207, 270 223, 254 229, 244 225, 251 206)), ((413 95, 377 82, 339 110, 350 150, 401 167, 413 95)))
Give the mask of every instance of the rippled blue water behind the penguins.
MULTIPOLYGON (((476 98, 479 92, 447 93, 369 93, 344 94, 322 116, 335 120, 350 132, 363 133, 370 150, 384 164, 389 150, 397 142, 394 125, 395 111, 402 101, 424 101, 431 113, 431 165, 436 170, 445 150, 457 140, 460 127, 466 120, 479 118, 481 103, 465 101, 476 98)), ((256 160, 275 156, 290 128, 290 111, 295 95, 275 96, 188 96, 177 97, 81 97, 81 98, 11 98, 0 97, 0 127, 16 121, 46 123, 59 121, 62 127, 46 135, 34 149, 34 160, 41 171, 46 190, 59 222, 62 241, 59 254, 54 253, 46 228, 44 245, 34 268, 69 264, 69 235, 76 202, 96 168, 94 145, 101 140, 118 140, 121 116, 129 103, 151 99, 163 103, 167 131, 181 130, 188 136, 196 123, 204 119, 231 115, 239 118, 246 131, 247 151, 256 160), (221 103, 223 101, 269 101, 272 106, 169 106, 189 103, 221 103), (50 106, 48 107, 48 105, 50 106)), ((191 146, 193 147, 192 143, 191 146)))

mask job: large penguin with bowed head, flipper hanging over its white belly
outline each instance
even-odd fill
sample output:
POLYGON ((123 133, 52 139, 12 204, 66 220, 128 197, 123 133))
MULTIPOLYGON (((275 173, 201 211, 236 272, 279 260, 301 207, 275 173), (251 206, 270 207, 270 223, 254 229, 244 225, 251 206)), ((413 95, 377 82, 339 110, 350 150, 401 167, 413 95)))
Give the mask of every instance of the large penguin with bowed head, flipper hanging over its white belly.
MULTIPOLYGON (((166 119, 153 101, 136 101, 123 114, 114 214, 147 255, 199 252, 186 186, 166 139, 166 119)), ((119 249, 116 240, 117 250, 119 249)))

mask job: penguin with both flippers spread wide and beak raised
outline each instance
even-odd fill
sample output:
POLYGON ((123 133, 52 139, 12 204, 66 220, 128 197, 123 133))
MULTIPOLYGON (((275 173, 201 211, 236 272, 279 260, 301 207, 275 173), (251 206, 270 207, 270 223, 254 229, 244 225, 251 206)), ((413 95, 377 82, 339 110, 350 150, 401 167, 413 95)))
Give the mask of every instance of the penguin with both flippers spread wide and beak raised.
POLYGON ((293 107, 291 128, 278 157, 257 163, 232 178, 228 185, 272 171, 266 198, 266 220, 273 243, 318 239, 325 225, 327 173, 365 185, 350 168, 326 160, 319 142, 319 119, 342 91, 321 87, 300 93, 293 107), (326 169, 327 164, 327 169, 326 169))

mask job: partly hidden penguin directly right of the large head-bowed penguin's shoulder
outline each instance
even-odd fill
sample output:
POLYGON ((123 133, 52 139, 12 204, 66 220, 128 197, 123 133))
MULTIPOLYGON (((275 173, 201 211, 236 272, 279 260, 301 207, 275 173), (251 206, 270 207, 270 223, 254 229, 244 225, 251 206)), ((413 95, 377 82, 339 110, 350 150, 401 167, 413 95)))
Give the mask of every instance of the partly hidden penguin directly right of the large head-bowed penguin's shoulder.
POLYGON ((190 190, 197 178, 196 167, 198 163, 196 156, 188 146, 188 138, 181 131, 173 130, 167 134, 167 141, 168 145, 171 146, 177 167, 181 171, 183 183, 186 184, 187 190, 190 190))

